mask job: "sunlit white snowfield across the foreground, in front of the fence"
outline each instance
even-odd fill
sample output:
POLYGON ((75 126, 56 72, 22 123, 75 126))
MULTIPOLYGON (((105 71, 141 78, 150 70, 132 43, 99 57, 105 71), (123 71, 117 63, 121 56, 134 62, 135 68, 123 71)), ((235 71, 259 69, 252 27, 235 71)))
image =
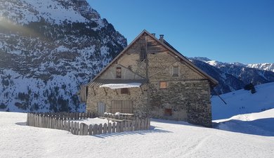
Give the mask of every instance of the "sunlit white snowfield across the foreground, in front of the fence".
MULTIPOLYGON (((245 120, 272 119, 273 122, 273 114, 274 110, 248 114, 245 120)), ((25 126, 26 117, 24 113, 0 112, 0 157, 272 158, 274 155, 274 131, 268 129, 273 124, 261 125, 261 130, 267 129, 270 135, 264 136, 220 130, 222 127, 231 130, 233 126, 222 125, 231 119, 216 123, 220 129, 193 126, 184 121, 153 119, 149 131, 74 136, 67 131, 25 126)), ((240 126, 245 122, 239 119, 235 124, 240 126)))

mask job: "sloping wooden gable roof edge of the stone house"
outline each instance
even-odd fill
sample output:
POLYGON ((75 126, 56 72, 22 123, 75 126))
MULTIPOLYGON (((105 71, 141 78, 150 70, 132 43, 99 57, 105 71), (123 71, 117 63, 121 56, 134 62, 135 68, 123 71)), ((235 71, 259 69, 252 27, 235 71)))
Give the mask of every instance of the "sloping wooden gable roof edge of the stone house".
POLYGON ((196 70, 198 73, 200 73, 202 76, 204 76, 205 78, 209 79, 210 83, 212 86, 216 86, 218 84, 218 81, 216 81, 216 79, 214 79, 213 77, 209 76, 209 74, 203 72, 202 70, 200 70, 200 68, 196 67, 193 62, 190 62, 190 60, 188 60, 187 58, 185 58, 185 56, 183 56, 180 52, 178 52, 173 46, 171 46, 167 41, 163 40, 160 41, 159 39, 157 39, 154 35, 150 34, 148 31, 146 31, 145 29, 143 30, 143 32, 141 32, 141 34, 139 34, 133 41, 131 41, 131 44, 129 44, 129 46, 126 46, 126 48, 124 48, 124 50, 119 53, 101 72, 99 72, 99 74, 96 75, 96 77, 94 77, 88 84, 87 86, 93 86, 94 83, 98 82, 96 79, 98 79, 98 77, 100 77, 101 74, 103 74, 103 72, 105 72, 105 70, 107 70, 108 67, 110 67, 110 65, 113 64, 113 62, 115 62, 117 59, 119 59, 119 57, 121 55, 123 55, 138 39, 140 39, 140 37, 143 36, 143 34, 148 34, 148 36, 152 37, 152 39, 155 39, 155 41, 158 41, 159 44, 162 44, 162 46, 164 46, 165 48, 167 48, 169 51, 171 51, 171 53, 174 53, 174 55, 178 56, 179 58, 181 58, 181 60, 183 60, 185 63, 187 63, 187 66, 192 68, 193 70, 196 70))

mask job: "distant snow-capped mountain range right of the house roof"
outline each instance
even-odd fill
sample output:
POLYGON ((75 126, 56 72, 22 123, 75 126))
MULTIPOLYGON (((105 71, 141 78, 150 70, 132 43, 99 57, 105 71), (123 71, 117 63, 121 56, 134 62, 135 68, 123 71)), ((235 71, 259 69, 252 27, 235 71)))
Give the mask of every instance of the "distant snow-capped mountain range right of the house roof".
MULTIPOLYGON (((197 67, 218 80, 217 93, 228 93, 252 83, 265 84, 274 81, 274 64, 249 64, 239 62, 227 63, 210 60, 204 57, 189 58, 197 67)), ((213 92, 214 95, 216 93, 213 92)))

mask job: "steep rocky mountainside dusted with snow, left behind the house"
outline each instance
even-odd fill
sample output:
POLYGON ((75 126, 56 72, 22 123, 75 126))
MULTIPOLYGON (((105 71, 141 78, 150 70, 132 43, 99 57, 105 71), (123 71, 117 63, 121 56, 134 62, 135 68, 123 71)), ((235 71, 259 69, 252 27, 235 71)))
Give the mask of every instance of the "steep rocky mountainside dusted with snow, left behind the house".
POLYGON ((125 46, 85 0, 0 0, 0 110, 84 110, 79 85, 125 46))

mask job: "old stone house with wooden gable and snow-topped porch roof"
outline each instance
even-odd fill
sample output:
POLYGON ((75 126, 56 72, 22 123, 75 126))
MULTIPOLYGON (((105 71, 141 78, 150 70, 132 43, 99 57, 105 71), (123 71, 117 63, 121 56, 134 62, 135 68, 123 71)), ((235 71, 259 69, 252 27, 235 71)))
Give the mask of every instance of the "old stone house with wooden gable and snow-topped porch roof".
POLYGON ((122 112, 211 126, 210 90, 218 81, 176 51, 163 35, 143 30, 89 84, 87 112, 122 112))

